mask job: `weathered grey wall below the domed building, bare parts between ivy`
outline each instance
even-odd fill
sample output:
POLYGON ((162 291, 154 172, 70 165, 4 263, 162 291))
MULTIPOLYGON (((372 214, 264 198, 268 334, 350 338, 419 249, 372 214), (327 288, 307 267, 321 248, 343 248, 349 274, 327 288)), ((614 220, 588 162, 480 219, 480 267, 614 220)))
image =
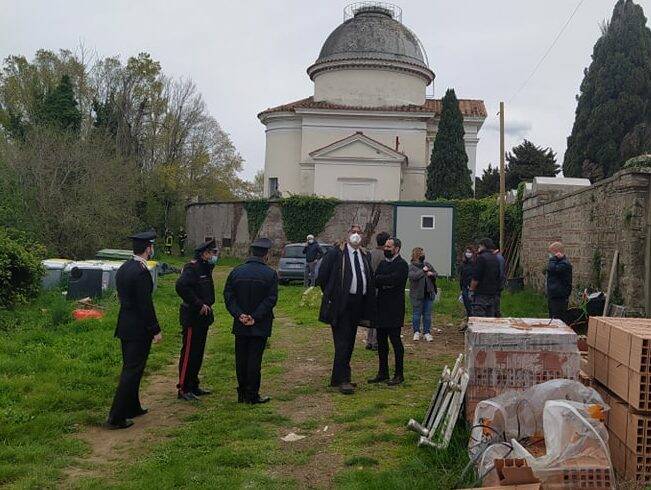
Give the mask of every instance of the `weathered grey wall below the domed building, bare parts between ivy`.
MULTIPOLYGON (((319 241, 335 243, 345 239, 351 224, 359 224, 364 230, 366 244, 374 244, 380 231, 393 233, 394 206, 377 202, 344 202, 335 208, 333 217, 324 230, 317 234, 319 241)), ((217 202, 191 204, 187 208, 186 230, 188 249, 203 243, 208 237, 215 238, 223 253, 243 258, 248 253, 252 237, 246 209, 241 202, 217 202)), ((267 216, 258 236, 274 243, 272 258, 277 259, 287 242, 283 230, 282 210, 278 203, 270 203, 267 216)))

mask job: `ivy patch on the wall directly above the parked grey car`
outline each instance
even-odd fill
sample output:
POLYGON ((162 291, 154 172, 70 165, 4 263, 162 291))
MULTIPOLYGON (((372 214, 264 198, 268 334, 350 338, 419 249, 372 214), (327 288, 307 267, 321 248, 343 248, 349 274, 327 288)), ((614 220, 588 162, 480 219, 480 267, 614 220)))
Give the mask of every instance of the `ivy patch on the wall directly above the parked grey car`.
POLYGON ((283 230, 290 242, 303 242, 309 234, 318 235, 334 215, 337 199, 315 196, 290 196, 280 201, 283 230))

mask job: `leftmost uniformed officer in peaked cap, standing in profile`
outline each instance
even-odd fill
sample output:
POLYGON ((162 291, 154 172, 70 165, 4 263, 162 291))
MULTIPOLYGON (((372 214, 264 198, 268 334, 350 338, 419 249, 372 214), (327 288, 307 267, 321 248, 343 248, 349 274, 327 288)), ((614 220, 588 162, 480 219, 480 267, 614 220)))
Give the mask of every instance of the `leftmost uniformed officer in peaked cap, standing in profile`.
POLYGON ((129 238, 133 240, 133 258, 122 264, 115 276, 120 299, 115 336, 122 343, 122 373, 106 422, 109 429, 131 427, 133 417, 147 413, 138 396, 140 380, 152 341, 162 340, 151 298, 154 284, 147 268, 147 260, 154 255, 156 233, 138 233, 129 238))

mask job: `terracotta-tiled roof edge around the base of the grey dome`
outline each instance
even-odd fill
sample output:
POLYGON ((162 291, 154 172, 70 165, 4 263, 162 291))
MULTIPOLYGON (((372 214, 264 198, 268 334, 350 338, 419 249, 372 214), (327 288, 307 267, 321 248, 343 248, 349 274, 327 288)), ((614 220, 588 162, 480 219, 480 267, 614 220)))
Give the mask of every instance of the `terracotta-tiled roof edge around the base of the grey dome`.
MULTIPOLYGON (((313 97, 290 102, 276 107, 270 107, 258 114, 260 117, 263 114, 272 112, 295 112, 296 109, 336 109, 336 110, 351 110, 351 111, 396 111, 396 112, 433 112, 435 116, 441 114, 441 99, 427 99, 423 105, 401 105, 401 106, 387 106, 387 107, 364 107, 364 106, 348 106, 342 104, 332 104, 330 102, 315 102, 313 97)), ((486 117, 486 106, 483 100, 459 99, 459 109, 461 114, 468 117, 486 117)))

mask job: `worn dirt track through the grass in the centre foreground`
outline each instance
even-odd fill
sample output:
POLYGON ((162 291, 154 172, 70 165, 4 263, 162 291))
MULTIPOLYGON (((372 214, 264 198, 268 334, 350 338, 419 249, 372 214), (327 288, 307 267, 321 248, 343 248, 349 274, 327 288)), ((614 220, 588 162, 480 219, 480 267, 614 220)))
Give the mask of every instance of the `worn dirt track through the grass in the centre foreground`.
MULTIPOLYGON (((327 386, 332 366, 332 344, 330 329, 306 329, 293 324, 287 317, 277 318, 273 346, 288 353, 283 363, 284 373, 275 380, 266 382, 274 393, 288 392, 287 399, 276 400, 281 415, 289 418, 292 427, 278 430, 278 437, 290 432, 305 436, 296 442, 284 442, 284 450, 304 453, 307 462, 302 465, 285 465, 273 468, 272 474, 293 478, 300 488, 332 488, 334 477, 343 467, 343 457, 331 447, 336 436, 345 430, 345 424, 336 423, 335 397, 341 396, 327 386)), ((443 332, 436 334, 435 342, 414 342, 411 327, 403 329, 403 343, 406 356, 421 359, 435 359, 439 356, 456 355, 463 350, 463 334, 458 326, 438 325, 443 332)), ((358 389, 366 389, 366 375, 374 374, 376 364, 362 359, 360 350, 365 347, 366 329, 358 330, 355 353, 353 354, 353 376, 359 383, 358 389)))

